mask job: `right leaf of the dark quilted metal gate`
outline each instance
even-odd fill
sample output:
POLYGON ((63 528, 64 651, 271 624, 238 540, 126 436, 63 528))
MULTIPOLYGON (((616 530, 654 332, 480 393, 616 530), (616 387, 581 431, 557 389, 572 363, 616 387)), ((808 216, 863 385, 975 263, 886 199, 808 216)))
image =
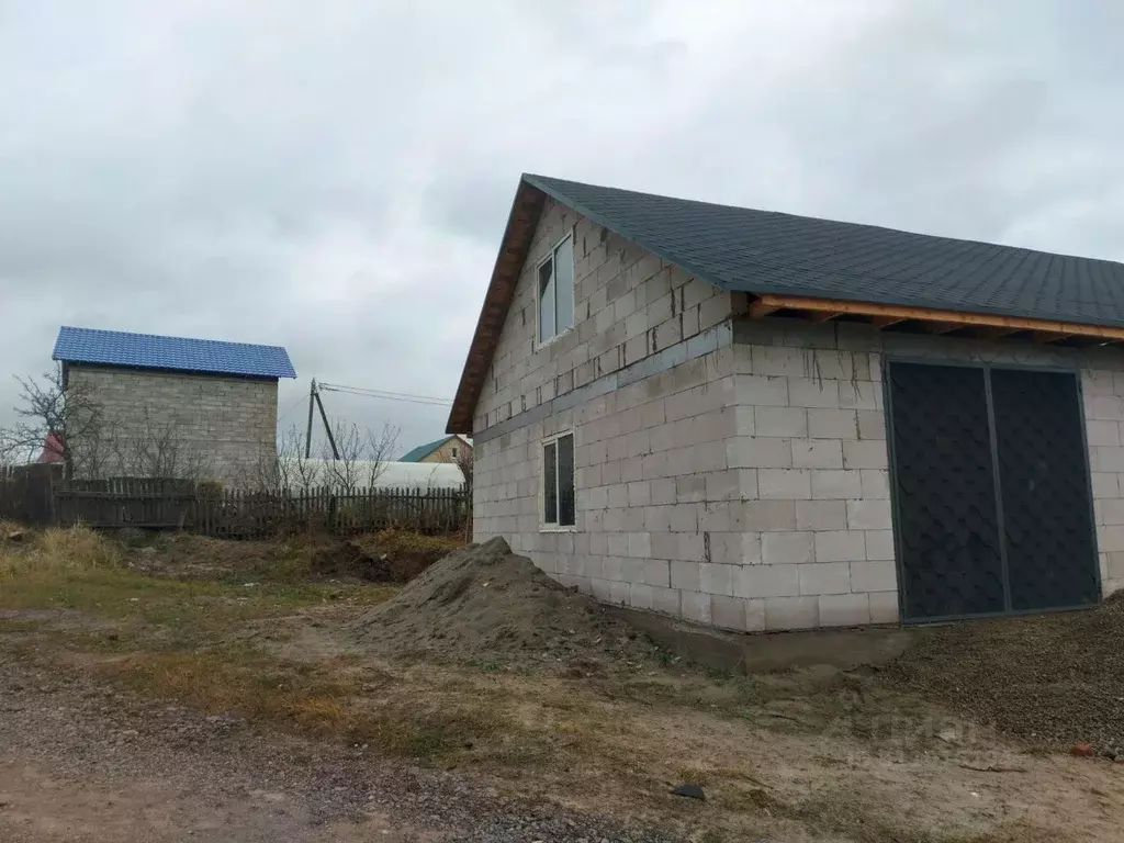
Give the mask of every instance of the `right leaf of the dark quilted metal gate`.
POLYGON ((1068 372, 992 369, 1013 611, 1097 601, 1080 396, 1068 372))

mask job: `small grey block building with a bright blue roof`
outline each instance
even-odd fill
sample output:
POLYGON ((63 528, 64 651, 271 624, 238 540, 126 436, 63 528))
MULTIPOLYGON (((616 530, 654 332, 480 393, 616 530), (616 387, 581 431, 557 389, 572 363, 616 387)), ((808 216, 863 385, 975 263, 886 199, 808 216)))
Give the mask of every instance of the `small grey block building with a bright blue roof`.
POLYGON ((100 413, 67 443, 78 477, 252 488, 275 463, 278 381, 297 377, 281 346, 66 326, 52 356, 100 413))

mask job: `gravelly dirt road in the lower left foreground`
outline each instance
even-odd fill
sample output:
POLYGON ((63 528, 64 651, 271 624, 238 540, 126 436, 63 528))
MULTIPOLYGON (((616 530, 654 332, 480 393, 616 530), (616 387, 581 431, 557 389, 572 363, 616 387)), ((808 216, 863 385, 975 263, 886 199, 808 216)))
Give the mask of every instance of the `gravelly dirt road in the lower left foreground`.
POLYGON ((0 655, 6 843, 658 841, 0 655))

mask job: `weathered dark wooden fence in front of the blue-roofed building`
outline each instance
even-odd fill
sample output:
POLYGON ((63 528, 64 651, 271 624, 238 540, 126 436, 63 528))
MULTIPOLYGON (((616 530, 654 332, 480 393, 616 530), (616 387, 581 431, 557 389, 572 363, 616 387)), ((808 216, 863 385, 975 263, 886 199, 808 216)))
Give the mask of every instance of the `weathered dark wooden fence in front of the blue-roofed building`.
MULTIPOLYGON (((469 518, 468 496, 461 489, 219 490, 179 480, 114 478, 57 482, 46 497, 49 513, 17 519, 64 526, 81 523, 96 529, 184 529, 216 537, 253 538, 305 529, 336 535, 388 527, 451 533, 461 529, 469 518)), ((2 500, 0 496, 0 504, 2 500)))

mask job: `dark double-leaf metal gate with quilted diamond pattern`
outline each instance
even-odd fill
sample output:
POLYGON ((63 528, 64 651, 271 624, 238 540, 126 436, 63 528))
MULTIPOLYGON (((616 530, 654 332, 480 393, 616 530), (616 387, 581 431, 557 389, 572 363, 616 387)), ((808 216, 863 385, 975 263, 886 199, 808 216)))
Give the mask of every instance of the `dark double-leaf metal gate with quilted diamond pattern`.
POLYGON ((1076 374, 891 362, 887 393, 906 620, 1097 601, 1076 374))

